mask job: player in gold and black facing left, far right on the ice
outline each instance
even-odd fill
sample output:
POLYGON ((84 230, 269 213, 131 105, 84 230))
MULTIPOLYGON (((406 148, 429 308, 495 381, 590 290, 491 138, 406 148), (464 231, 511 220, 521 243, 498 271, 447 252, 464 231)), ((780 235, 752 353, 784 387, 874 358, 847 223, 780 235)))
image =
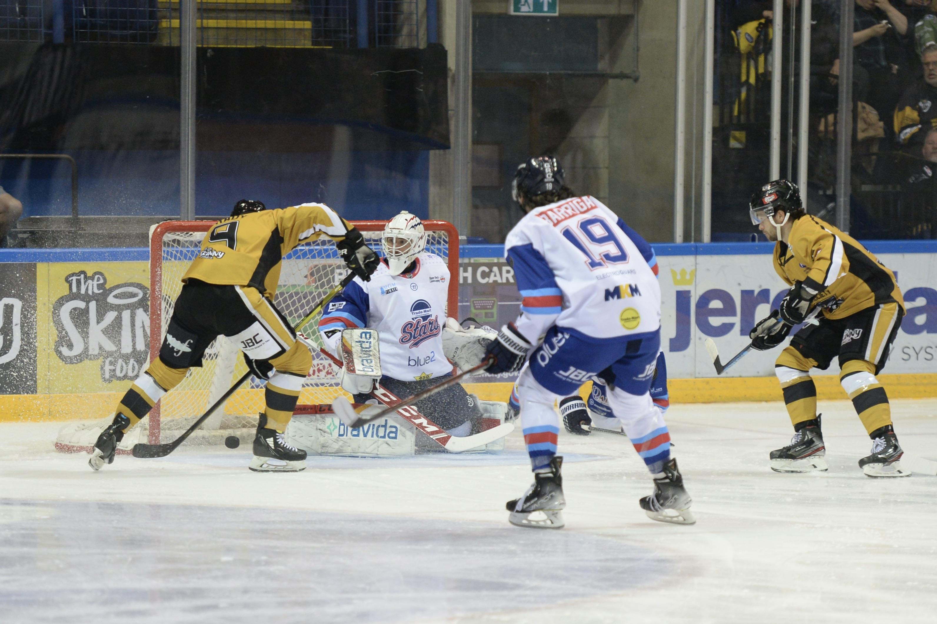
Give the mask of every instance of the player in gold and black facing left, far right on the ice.
POLYGON ((772 470, 826 470, 810 370, 825 370, 838 357, 840 385, 872 440, 871 454, 859 467, 871 477, 907 476, 888 397, 875 377, 885 368, 904 315, 895 275, 848 234, 807 214, 790 181, 768 182, 751 196, 749 209, 751 222, 775 241, 774 268, 791 285, 780 309, 751 329, 752 346, 778 346, 804 323, 775 363, 795 435, 771 452, 772 470))

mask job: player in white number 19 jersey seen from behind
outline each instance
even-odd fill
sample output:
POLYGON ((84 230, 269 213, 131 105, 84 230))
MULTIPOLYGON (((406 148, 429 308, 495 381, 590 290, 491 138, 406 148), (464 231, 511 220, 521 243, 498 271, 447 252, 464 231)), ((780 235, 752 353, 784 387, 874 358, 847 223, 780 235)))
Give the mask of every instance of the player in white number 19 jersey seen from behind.
POLYGON ((531 158, 513 181, 513 198, 527 212, 504 243, 523 297, 517 319, 488 345, 492 373, 520 370, 520 418, 534 485, 508 502, 521 527, 563 526, 554 402, 601 379, 607 399, 654 479, 639 501, 647 515, 690 524, 691 499, 662 410, 648 393, 661 345, 661 289, 650 246, 592 196, 563 184, 556 158, 531 158))

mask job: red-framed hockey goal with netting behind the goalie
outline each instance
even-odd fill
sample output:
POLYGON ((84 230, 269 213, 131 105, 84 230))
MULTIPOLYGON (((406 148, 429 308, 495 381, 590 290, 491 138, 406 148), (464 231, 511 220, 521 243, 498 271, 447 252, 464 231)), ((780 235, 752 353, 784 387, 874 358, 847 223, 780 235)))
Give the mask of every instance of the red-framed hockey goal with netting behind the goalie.
MULTIPOLYGON (((182 289, 182 276, 201 248, 201 240, 214 221, 170 221, 153 227, 150 233, 150 359, 159 347, 169 326, 176 297, 182 289)), ((367 244, 383 256, 380 235, 386 221, 351 222, 364 235, 367 244)), ((424 221, 427 252, 441 256, 448 264, 447 312, 457 313, 458 305, 458 234, 445 221, 424 221)), ((283 258, 274 303, 290 320, 298 323, 347 274, 335 242, 327 237, 298 246, 283 258)), ((321 346, 321 314, 300 328, 317 347, 321 346)), ((313 364, 305 380, 299 403, 331 403, 344 391, 338 385, 338 369, 318 349, 312 353, 313 364)), ((231 342, 219 336, 208 347, 201 368, 189 370, 186 379, 156 403, 134 435, 128 435, 120 450, 127 452, 134 443, 168 443, 204 414, 247 368, 241 353, 231 342)), ((258 414, 263 411, 263 382, 251 377, 224 405, 212 414, 201 428, 186 440, 192 444, 222 443, 235 435, 242 441, 253 438, 258 414)), ((63 428, 55 446, 60 451, 90 451, 101 428, 111 416, 91 423, 75 423, 63 428)))

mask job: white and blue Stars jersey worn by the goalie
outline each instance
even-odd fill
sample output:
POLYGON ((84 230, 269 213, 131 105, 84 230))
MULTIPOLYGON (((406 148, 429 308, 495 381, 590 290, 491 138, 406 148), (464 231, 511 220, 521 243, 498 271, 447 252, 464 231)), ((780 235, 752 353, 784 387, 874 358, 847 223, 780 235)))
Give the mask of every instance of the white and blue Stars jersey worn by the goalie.
POLYGON ((449 268, 439 255, 423 253, 411 273, 391 275, 380 263, 369 282, 355 278, 322 312, 319 331, 337 354, 341 330, 371 327, 380 336, 380 367, 400 381, 432 379, 453 371, 442 353, 449 268))

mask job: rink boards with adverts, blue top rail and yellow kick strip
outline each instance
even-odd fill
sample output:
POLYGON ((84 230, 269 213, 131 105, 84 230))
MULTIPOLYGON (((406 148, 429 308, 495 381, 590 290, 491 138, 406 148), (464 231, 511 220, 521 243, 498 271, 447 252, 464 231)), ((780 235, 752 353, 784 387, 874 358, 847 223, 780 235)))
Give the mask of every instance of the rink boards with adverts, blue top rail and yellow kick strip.
MULTIPOLYGON (((882 381, 894 397, 937 396, 937 241, 870 241, 896 271, 908 314, 882 381)), ((768 243, 656 244, 662 346, 673 401, 780 398, 777 352, 752 352, 718 380, 704 341, 731 355, 787 286, 768 243)), ((516 316, 520 297, 500 245, 461 250, 458 316, 493 327, 516 316)), ((98 416, 149 356, 148 253, 144 249, 0 250, 0 420, 98 416)), ((451 312, 452 314, 452 312, 451 312)), ((834 364, 821 397, 841 398, 834 364)), ((482 399, 505 399, 510 377, 479 378, 482 399)), ((244 392, 258 392, 245 390, 244 392)))

